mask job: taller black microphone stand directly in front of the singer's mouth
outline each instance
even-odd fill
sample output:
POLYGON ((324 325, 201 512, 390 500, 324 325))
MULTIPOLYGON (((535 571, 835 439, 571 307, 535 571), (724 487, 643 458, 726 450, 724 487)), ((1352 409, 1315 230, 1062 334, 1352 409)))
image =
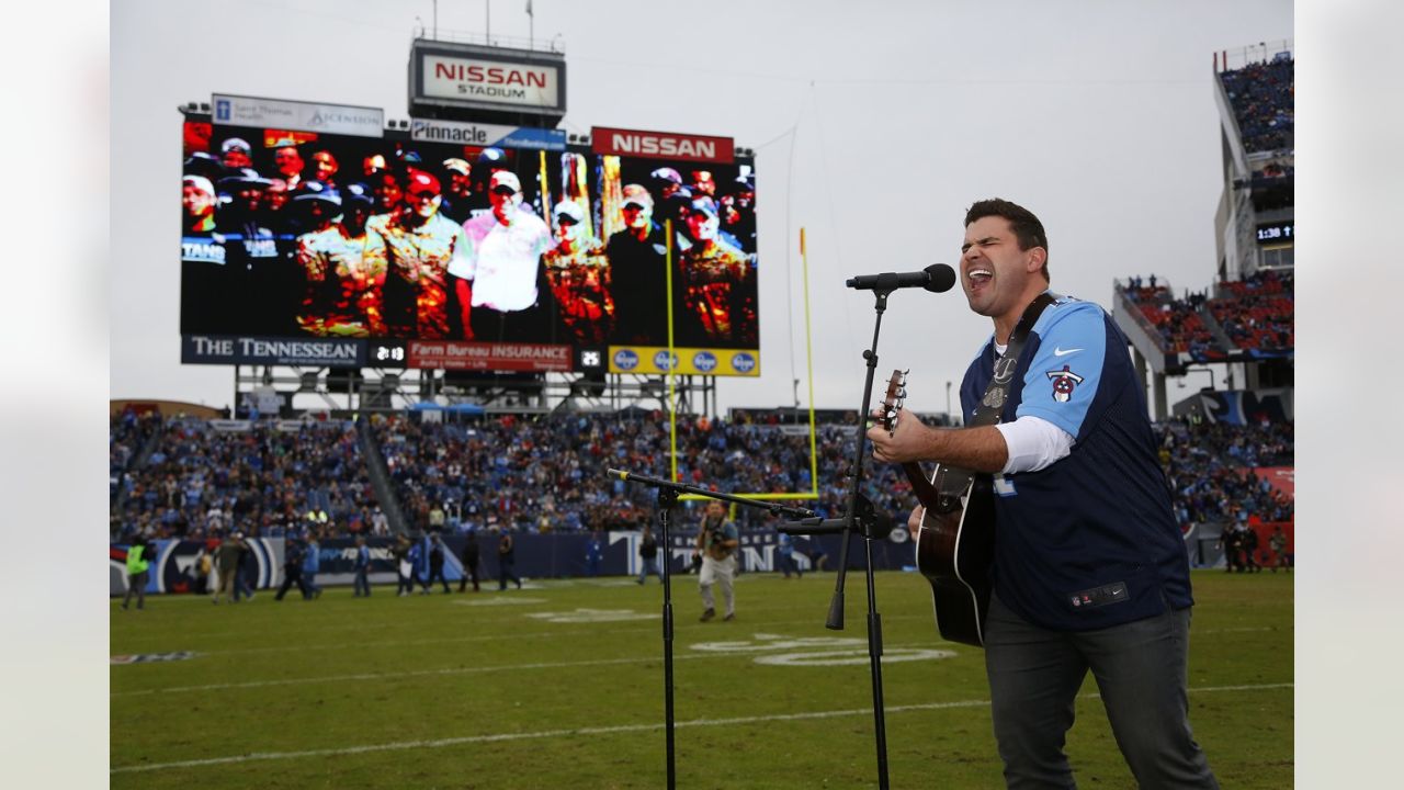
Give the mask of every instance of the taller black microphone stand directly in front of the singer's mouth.
MULTIPOLYGON (((852 285, 852 283, 849 283, 852 285)), ((834 581, 834 597, 828 606, 828 620, 824 623, 826 628, 833 631, 844 630, 844 582, 848 575, 848 538, 858 526, 863 536, 863 550, 868 558, 868 663, 873 680, 873 737, 878 746, 878 787, 880 790, 887 790, 887 725, 883 718, 883 700, 882 700, 882 616, 878 613, 878 599, 876 588, 873 583, 873 548, 872 541, 880 540, 886 533, 880 533, 880 520, 873 513, 872 503, 868 502, 859 488, 863 479, 863 455, 868 441, 868 405, 872 402, 873 394, 873 374, 878 371, 878 335, 882 330, 882 313, 887 311, 887 295, 894 290, 901 287, 897 283, 897 277, 892 276, 889 280, 879 281, 873 287, 875 305, 873 309, 878 312, 878 318, 873 322, 873 344, 870 349, 863 351, 863 358, 868 360, 868 377, 863 381, 863 401, 858 408, 858 413, 862 419, 858 420, 858 427, 855 430, 858 447, 854 455, 854 467, 849 474, 852 488, 848 492, 848 512, 842 519, 824 519, 817 522, 809 519, 809 523, 797 522, 781 527, 781 531, 789 531, 790 534, 823 534, 823 533, 842 533, 842 545, 838 550, 838 574, 834 581), (793 530, 793 531, 792 531, 793 530)), ((892 531, 890 519, 886 524, 886 530, 892 531)))

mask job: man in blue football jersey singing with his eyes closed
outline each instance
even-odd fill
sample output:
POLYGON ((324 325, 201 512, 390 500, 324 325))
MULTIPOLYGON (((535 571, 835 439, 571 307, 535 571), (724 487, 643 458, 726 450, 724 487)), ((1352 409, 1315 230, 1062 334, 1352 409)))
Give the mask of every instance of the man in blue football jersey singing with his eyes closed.
MULTIPOLYGON (((1075 787, 1063 746, 1091 671, 1140 787, 1219 787, 1189 728, 1189 562, 1126 339, 1095 304, 1040 299, 1047 236, 1031 211, 979 201, 965 225, 960 284, 994 336, 960 403, 966 425, 981 409, 997 409, 998 425, 934 429, 903 409, 890 433, 879 425, 868 439, 879 461, 990 475, 983 641, 1005 783, 1075 787), (1047 306, 1008 370, 1001 358, 1035 302, 1047 306), (986 396, 995 371, 1008 381, 1002 402, 986 396)), ((911 513, 913 534, 922 514, 911 513)))

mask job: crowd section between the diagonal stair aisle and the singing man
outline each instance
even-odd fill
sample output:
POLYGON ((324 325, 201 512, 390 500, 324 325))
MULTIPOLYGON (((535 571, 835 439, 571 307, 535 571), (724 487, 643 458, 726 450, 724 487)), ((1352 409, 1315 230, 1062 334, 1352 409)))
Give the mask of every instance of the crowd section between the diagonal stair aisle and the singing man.
MULTIPOLYGON (((611 478, 608 468, 667 477, 670 437, 663 412, 503 416, 470 423, 372 419, 406 517, 417 527, 511 524, 538 533, 635 527, 651 517, 653 492, 611 478)), ((852 426, 819 432, 817 510, 842 509, 842 475, 854 454, 852 426), (823 482, 823 479, 831 482, 823 482)), ((723 492, 810 491, 809 439, 776 425, 678 417, 684 482, 723 492)), ((893 468, 869 468, 865 493, 890 510, 910 509, 910 486, 893 468)), ((764 513, 741 509, 743 529, 764 513)))

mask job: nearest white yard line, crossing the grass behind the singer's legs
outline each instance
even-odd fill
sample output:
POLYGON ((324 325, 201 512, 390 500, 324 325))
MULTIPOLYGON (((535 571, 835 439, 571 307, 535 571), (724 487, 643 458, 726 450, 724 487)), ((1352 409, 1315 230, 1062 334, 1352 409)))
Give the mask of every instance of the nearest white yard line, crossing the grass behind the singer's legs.
MULTIPOLYGON (((632 661, 632 659, 630 659, 632 661)), ((1269 689, 1290 689, 1293 683, 1262 683, 1254 686, 1209 686, 1203 689, 1191 689, 1191 693, 1203 694, 1212 692, 1258 692, 1269 689)), ((1095 697, 1097 694, 1082 694, 1084 697, 1095 697)), ((962 707, 986 707, 990 700, 960 700, 952 703, 927 703, 914 706, 892 706, 885 707, 885 713, 911 713, 922 710, 945 710, 945 708, 962 708, 962 707)), ((746 715, 737 718, 695 718, 691 721, 678 721, 675 727, 734 727, 737 724, 760 724, 767 721, 803 721, 814 718, 838 718, 847 715, 872 715, 872 708, 854 708, 854 710, 821 710, 813 713, 785 713, 774 715, 746 715)), ((345 756, 345 755, 361 755, 366 752, 390 752, 400 749, 441 749, 444 746, 461 746, 466 744, 496 744, 503 741, 529 741, 541 738, 580 738, 588 735, 615 735, 621 732, 651 732, 663 730, 664 724, 622 724, 618 727, 585 727, 580 730, 542 730, 538 732, 505 732, 501 735, 466 735, 462 738, 438 738, 434 741, 395 741, 389 744, 368 744, 364 746, 345 746, 340 749, 310 749, 305 752, 253 752, 247 755, 232 755, 227 758, 209 758, 202 760, 181 760, 181 762, 167 762, 167 763, 152 763, 152 765, 126 765, 111 769, 110 773, 135 773, 145 770, 166 770, 171 768, 202 768, 209 765, 229 765, 229 763, 243 763, 254 760, 285 760, 285 759, 299 759, 299 758, 331 758, 331 756, 345 756)))

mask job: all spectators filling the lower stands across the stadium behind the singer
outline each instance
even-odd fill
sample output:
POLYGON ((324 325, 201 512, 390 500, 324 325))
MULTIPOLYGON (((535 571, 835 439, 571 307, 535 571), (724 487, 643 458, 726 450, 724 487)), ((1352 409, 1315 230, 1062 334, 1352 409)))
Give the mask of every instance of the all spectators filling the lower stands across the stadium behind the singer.
MULTIPOLYGON (((817 432, 819 500, 826 517, 847 505, 854 426, 817 432)), ((246 533, 279 537, 389 534, 350 420, 216 422, 128 415, 111 420, 114 464, 132 458, 133 437, 160 430, 145 464, 115 474, 111 538, 204 540, 246 533), (240 430, 229 430, 241 425, 240 430), (122 450, 118 450, 118 448, 122 450)), ((653 489, 608 468, 667 477, 663 412, 517 415, 427 422, 373 415, 373 443, 411 531, 590 531, 639 529, 656 513, 653 489)), ((1254 467, 1292 464, 1292 425, 1228 426, 1171 420, 1157 426, 1161 461, 1182 523, 1230 522, 1255 513, 1292 517, 1292 503, 1258 484, 1254 467)), ((740 420, 678 416, 682 481, 723 492, 812 488, 809 436, 761 415, 740 420), (757 419, 760 417, 760 419, 757 419)), ((115 467, 114 467, 115 468, 115 467)), ((899 467, 865 464, 863 495, 899 517, 915 506, 899 467)), ((691 519, 694 514, 684 516, 691 519)), ((740 529, 768 529, 764 510, 737 510, 740 529)))

